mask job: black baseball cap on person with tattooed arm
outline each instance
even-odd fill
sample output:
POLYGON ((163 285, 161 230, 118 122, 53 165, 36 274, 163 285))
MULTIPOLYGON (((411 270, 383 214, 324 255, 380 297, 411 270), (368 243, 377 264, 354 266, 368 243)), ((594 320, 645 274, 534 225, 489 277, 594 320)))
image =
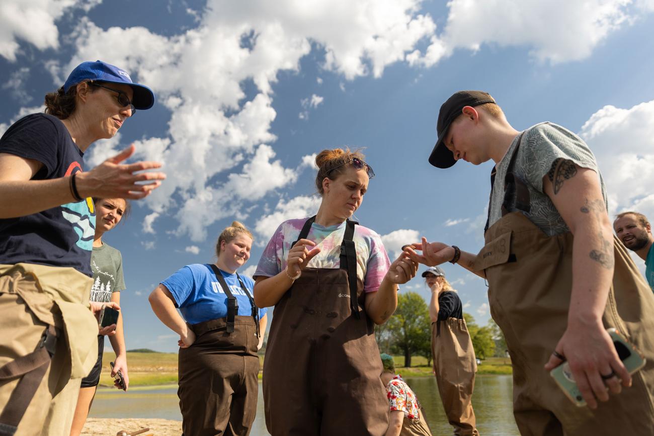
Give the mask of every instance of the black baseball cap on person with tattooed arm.
POLYGON ((434 145, 434 150, 429 156, 429 163, 437 168, 449 168, 456 163, 456 159, 450 150, 447 150, 443 139, 447 134, 450 124, 461 114, 461 110, 466 106, 479 106, 485 103, 495 103, 490 94, 483 91, 458 91, 452 94, 441 106, 438 112, 438 122, 436 123, 436 133, 438 141, 434 145))

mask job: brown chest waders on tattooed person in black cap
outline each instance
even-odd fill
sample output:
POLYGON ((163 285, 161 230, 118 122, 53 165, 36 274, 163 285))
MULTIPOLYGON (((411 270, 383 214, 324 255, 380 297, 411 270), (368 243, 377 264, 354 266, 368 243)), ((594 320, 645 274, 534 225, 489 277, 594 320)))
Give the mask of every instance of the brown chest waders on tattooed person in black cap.
POLYGON ((632 375, 630 388, 594 411, 574 406, 543 369, 568 322, 574 237, 549 237, 520 212, 528 211, 529 194, 512 172, 516 153, 504 180, 503 216, 490 228, 487 223, 475 269, 485 271, 490 313, 511 354, 518 428, 523 435, 654 435, 654 295, 617 238, 602 321, 624 333, 647 364, 632 375))

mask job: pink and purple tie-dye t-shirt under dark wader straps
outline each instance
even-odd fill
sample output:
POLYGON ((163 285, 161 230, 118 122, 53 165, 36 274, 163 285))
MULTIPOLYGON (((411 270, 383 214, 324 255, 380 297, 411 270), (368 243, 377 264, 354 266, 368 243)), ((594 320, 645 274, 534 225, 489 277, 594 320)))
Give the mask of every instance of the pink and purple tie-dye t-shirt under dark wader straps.
MULTIPOLYGON (((277 227, 259 260, 254 278, 273 277, 284 271, 291 244, 298 239, 308 219, 284 221, 277 227)), ((320 247, 320 253, 309 261, 307 267, 329 269, 340 267, 341 243, 345 227, 345 222, 328 227, 313 223, 307 239, 320 247)), ((359 225, 354 227, 353 241, 356 246, 356 275, 363 282, 365 292, 376 292, 390 267, 384 244, 375 231, 359 225)))

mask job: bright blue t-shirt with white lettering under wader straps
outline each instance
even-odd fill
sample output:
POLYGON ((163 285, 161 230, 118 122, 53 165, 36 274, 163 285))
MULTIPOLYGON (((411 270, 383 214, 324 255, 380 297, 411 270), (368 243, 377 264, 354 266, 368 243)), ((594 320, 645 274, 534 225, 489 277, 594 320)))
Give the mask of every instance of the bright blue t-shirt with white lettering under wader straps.
MULTIPOLYGON (((239 279, 235 274, 219 271, 239 303, 237 315, 252 315, 250 300, 241 289, 239 279)), ((243 284, 252 295, 254 280, 247 276, 241 276, 241 280, 243 280, 243 284)), ((163 280, 162 284, 173 294, 177 307, 182 312, 184 320, 189 324, 198 324, 198 322, 227 316, 227 295, 222 290, 222 286, 220 286, 220 282, 218 282, 218 278, 216 278, 209 263, 186 265, 171 277, 163 280)), ((266 312, 267 309, 265 308, 259 309, 259 319, 266 312)))

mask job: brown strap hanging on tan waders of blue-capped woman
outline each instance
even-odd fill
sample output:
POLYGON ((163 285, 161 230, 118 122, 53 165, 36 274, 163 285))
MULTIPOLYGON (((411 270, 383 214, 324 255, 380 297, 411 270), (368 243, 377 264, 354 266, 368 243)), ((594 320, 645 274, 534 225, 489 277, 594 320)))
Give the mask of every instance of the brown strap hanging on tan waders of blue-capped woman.
POLYGON ((0 381, 7 382, 22 377, 9 397, 5 409, 0 414, 0 435, 13 435, 23 418, 27 406, 36 394, 41 380, 48 371, 57 344, 57 331, 48 326, 43 332, 41 342, 33 352, 5 363, 0 367, 0 381))

